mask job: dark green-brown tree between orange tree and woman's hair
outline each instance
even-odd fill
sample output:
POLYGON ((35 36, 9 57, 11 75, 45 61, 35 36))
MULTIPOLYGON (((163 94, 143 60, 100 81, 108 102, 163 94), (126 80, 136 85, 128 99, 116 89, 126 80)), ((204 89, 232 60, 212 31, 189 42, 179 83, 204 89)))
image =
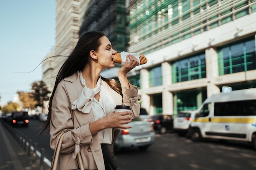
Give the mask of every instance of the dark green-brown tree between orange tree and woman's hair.
POLYGON ((43 107, 43 101, 49 100, 50 91, 44 81, 35 81, 31 87, 31 94, 37 102, 36 107, 43 107))

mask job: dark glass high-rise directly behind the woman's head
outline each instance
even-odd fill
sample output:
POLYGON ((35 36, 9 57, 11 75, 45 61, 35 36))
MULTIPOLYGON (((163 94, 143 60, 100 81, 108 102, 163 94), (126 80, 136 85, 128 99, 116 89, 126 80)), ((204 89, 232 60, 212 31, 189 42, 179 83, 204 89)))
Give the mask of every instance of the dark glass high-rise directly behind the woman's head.
MULTIPOLYGON (((112 48, 117 52, 125 51, 128 47, 128 19, 125 0, 91 0, 83 16, 79 35, 88 31, 101 31, 110 40, 112 48)), ((121 65, 103 70, 101 76, 117 78, 121 65)))

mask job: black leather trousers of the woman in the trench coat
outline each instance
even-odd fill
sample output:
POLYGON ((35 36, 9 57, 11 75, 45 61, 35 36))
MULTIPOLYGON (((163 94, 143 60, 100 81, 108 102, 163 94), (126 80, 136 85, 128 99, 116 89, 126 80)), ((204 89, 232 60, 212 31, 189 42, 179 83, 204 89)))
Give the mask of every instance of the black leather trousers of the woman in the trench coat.
POLYGON ((116 170, 117 163, 112 144, 101 144, 103 159, 106 170, 116 170))

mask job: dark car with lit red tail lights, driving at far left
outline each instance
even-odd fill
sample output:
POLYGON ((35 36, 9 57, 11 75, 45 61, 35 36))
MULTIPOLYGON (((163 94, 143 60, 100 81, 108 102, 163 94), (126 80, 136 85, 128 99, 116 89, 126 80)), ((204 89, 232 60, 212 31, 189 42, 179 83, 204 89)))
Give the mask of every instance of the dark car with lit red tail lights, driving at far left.
POLYGON ((8 118, 8 123, 11 125, 29 125, 29 116, 26 111, 13 111, 8 118))

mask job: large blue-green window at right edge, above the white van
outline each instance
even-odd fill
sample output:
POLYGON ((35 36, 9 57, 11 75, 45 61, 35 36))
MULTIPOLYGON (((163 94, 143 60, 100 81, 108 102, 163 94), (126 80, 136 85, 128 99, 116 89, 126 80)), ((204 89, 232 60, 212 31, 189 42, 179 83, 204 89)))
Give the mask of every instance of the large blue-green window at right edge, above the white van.
POLYGON ((256 70, 255 39, 246 39, 218 49, 219 75, 256 70))

